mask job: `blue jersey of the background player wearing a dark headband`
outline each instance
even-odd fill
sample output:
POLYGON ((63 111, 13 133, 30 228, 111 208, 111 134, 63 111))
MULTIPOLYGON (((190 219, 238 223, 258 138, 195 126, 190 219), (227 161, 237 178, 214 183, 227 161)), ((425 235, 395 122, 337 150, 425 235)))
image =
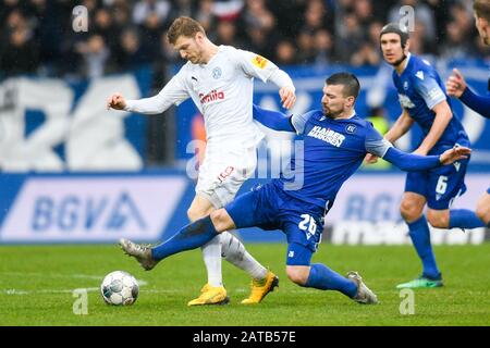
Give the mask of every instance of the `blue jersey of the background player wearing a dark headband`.
MULTIPOLYGON (((431 109, 444 100, 451 108, 451 100, 445 94, 439 74, 428 61, 411 54, 401 75, 393 70, 393 83, 399 92, 401 105, 420 126, 424 137, 427 136, 436 119, 436 113, 431 109)), ((470 146, 463 125, 453 114, 451 122, 429 154, 440 154, 455 144, 470 146)))

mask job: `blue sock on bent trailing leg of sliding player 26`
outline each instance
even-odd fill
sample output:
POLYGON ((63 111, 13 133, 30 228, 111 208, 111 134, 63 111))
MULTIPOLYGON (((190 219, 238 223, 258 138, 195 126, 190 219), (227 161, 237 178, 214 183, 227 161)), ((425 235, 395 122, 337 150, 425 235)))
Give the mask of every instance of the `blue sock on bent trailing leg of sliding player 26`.
POLYGON ((321 263, 311 264, 305 287, 320 290, 338 290, 353 298, 357 294, 357 285, 321 263))

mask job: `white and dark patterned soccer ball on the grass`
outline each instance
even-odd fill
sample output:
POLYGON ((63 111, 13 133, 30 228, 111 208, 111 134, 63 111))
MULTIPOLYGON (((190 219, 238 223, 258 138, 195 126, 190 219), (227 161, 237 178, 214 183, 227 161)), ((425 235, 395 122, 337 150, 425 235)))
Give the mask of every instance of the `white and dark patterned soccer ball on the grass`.
POLYGON ((100 294, 108 304, 128 306, 138 298, 139 285, 136 278, 124 271, 106 275, 100 285, 100 294))

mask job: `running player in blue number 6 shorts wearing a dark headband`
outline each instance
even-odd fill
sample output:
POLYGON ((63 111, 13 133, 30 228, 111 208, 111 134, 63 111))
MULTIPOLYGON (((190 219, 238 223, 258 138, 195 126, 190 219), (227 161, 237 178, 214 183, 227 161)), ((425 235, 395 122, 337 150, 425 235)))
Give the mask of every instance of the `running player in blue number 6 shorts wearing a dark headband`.
MULTIPOLYGON (((424 59, 411 54, 409 37, 400 25, 391 23, 380 33, 384 60, 394 67, 393 83, 399 92, 402 114, 384 138, 394 142, 417 123, 424 138, 414 153, 441 154, 454 146, 469 146, 468 136, 460 120, 453 115, 451 101, 437 71, 424 59)), ((368 162, 376 159, 367 157, 368 162)), ((475 228, 483 226, 474 211, 450 210, 457 196, 466 191, 464 177, 468 159, 454 165, 411 172, 406 176, 401 202, 402 217, 408 225, 409 236, 422 262, 419 277, 397 288, 431 288, 442 286, 442 275, 436 263, 427 221, 439 228, 475 228), (424 208, 427 209, 427 220, 424 208)))

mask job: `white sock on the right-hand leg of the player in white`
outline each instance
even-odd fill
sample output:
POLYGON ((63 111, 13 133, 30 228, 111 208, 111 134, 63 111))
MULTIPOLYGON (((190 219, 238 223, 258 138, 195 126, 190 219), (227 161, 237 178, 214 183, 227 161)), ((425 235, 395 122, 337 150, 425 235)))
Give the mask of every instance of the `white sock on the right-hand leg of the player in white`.
POLYGON ((267 269, 245 250, 238 238, 228 231, 221 233, 221 256, 247 272, 254 279, 264 279, 267 275, 267 269))

